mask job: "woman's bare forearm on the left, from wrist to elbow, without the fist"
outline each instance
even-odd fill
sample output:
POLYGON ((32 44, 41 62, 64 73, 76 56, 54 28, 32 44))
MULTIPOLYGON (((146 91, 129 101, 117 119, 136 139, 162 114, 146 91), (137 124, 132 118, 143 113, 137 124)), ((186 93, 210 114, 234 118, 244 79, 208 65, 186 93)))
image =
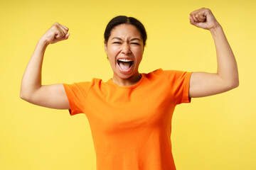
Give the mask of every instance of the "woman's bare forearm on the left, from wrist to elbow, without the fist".
POLYGON ((41 72, 43 55, 46 51, 46 43, 39 40, 21 81, 21 98, 28 98, 36 90, 41 88, 41 72))

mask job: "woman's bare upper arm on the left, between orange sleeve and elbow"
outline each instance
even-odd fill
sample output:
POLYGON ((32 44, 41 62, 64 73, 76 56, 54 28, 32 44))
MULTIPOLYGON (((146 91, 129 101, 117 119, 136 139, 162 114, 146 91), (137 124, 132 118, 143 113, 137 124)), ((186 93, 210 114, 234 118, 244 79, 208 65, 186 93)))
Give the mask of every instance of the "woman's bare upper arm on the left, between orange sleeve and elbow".
POLYGON ((46 108, 69 109, 68 97, 63 84, 43 85, 28 101, 46 108))

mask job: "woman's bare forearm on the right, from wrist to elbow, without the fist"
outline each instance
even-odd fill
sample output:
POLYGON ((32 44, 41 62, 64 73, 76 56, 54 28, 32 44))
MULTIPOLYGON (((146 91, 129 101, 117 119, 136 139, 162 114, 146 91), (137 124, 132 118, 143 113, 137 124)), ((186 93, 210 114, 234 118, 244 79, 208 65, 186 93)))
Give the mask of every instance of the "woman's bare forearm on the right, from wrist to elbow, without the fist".
POLYGON ((225 84, 231 87, 236 87, 239 84, 238 66, 235 61, 235 56, 228 43, 223 28, 218 24, 215 28, 210 29, 215 42, 217 53, 218 69, 217 74, 225 84))

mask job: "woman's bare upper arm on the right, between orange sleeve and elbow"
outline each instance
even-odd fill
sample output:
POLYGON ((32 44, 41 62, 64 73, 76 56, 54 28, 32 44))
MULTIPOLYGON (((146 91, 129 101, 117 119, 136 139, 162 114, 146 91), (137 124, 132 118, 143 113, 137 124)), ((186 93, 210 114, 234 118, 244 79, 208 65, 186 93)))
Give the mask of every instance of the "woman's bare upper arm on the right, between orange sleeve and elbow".
POLYGON ((189 97, 197 98, 220 94, 233 89, 217 73, 193 72, 189 83, 189 97))

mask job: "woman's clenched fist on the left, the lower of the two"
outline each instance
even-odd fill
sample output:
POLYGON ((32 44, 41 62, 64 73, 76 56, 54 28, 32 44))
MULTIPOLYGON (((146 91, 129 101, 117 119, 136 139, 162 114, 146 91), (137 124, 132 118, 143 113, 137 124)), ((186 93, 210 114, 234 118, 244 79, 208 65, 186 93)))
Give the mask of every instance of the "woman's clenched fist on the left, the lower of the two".
POLYGON ((67 40, 69 35, 70 33, 68 33, 67 27, 60 25, 59 23, 54 23, 41 37, 41 40, 45 42, 46 45, 49 45, 61 40, 67 40))

